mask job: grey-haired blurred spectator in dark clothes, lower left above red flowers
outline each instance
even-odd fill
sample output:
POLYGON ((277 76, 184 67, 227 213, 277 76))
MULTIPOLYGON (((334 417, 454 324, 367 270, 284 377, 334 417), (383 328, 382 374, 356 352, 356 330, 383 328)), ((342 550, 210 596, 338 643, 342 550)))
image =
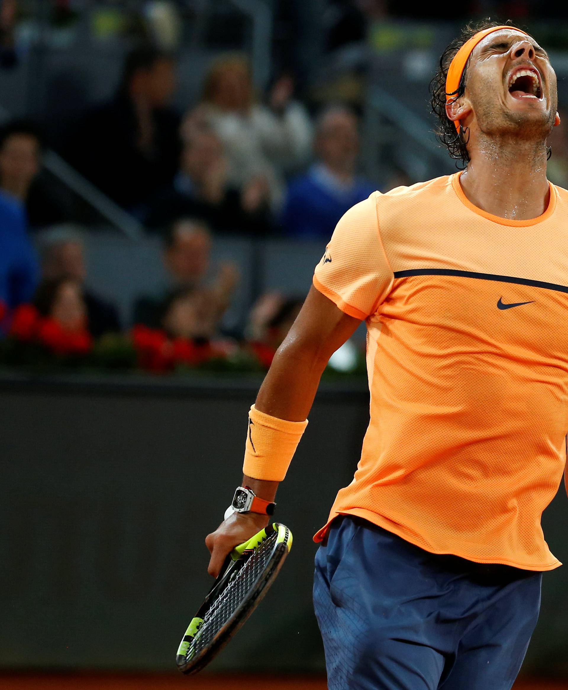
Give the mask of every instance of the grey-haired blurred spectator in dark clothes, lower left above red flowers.
POLYGON ((81 287, 88 331, 93 337, 120 331, 117 308, 86 288, 83 231, 78 226, 62 225, 41 236, 41 269, 44 281, 70 280, 81 287))

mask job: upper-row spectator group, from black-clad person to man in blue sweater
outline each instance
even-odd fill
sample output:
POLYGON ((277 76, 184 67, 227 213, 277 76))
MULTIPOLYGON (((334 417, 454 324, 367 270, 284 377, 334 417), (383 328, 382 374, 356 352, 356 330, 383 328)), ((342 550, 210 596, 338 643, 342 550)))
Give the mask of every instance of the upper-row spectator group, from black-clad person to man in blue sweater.
POLYGON ((133 50, 115 97, 86 112, 63 150, 150 230, 190 217, 214 233, 329 237, 374 188, 357 175, 349 108, 324 108, 314 123, 289 74, 260 98, 248 58, 234 54, 210 66, 201 100, 179 117, 169 105, 175 74, 167 53, 133 50), (309 216, 301 227, 299 213, 309 216))

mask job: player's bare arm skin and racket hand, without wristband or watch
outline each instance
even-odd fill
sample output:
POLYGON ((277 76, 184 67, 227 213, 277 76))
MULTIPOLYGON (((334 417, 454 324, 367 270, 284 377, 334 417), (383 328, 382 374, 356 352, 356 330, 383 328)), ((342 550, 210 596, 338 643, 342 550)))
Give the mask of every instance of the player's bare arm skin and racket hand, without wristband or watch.
MULTIPOLYGON (((302 311, 278 349, 260 387, 255 407, 290 422, 303 422, 309 415, 320 377, 329 357, 353 335, 360 324, 344 314, 330 299, 311 288, 302 311)), ((243 477, 243 486, 273 500, 278 482, 243 477)), ((216 576, 234 546, 253 536, 268 523, 266 515, 235 513, 206 538, 211 553, 208 567, 216 576)))

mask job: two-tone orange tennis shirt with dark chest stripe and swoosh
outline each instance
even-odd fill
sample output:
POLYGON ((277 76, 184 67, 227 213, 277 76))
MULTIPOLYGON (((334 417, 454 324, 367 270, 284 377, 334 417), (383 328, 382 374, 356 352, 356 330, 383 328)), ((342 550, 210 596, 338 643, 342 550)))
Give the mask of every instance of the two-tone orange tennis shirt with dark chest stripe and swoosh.
POLYGON ((568 431, 568 192, 485 213, 459 174, 373 193, 337 224, 315 287, 366 319, 371 421, 331 520, 432 553, 545 571, 540 518, 568 431))

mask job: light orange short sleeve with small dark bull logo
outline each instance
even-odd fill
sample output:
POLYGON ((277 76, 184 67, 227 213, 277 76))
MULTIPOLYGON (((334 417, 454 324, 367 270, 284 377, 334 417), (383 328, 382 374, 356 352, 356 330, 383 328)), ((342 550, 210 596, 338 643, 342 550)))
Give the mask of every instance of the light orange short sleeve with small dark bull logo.
POLYGON ((378 198, 373 193, 340 219, 313 275, 315 288, 356 319, 377 310, 394 279, 380 239, 378 198))

